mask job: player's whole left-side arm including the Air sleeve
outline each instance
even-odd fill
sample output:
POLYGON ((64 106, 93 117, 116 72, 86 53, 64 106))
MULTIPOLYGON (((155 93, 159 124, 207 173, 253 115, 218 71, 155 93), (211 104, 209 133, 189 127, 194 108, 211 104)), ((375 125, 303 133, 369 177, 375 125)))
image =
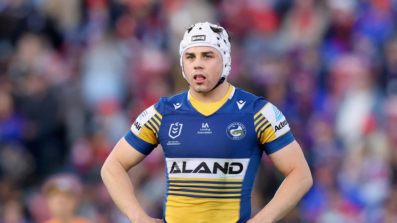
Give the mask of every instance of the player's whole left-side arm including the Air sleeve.
POLYGON ((110 196, 133 223, 162 222, 160 219, 150 218, 143 211, 127 175, 129 169, 140 163, 159 144, 157 135, 162 120, 162 115, 156 110, 159 107, 160 102, 150 106, 137 117, 101 169, 101 176, 110 196))

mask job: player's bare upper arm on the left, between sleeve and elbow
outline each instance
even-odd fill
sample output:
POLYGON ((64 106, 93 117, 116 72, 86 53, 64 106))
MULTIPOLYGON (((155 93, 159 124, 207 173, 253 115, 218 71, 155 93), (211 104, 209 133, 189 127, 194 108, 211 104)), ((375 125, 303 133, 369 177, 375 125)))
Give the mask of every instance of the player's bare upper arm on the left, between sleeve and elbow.
POLYGON ((106 162, 117 163, 119 162, 128 171, 138 163, 140 163, 146 155, 135 150, 128 142, 122 137, 114 149, 106 159, 106 162))

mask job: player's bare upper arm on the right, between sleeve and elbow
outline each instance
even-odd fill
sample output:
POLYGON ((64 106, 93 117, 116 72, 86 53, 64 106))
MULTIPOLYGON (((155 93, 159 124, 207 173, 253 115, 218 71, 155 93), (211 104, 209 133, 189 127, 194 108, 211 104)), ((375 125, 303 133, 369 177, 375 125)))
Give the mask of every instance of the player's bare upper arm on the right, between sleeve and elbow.
POLYGON ((296 140, 268 155, 273 165, 286 177, 295 168, 308 169, 301 146, 296 140))

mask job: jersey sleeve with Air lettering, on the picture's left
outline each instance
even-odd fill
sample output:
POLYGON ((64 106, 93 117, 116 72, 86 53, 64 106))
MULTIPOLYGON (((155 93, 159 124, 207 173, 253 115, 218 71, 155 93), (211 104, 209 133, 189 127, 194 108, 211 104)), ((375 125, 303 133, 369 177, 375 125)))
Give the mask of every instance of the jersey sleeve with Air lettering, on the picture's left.
MULTIPOLYGON (((160 102, 162 100, 160 99, 160 102)), ((158 131, 161 125, 161 106, 160 102, 150 106, 143 111, 131 129, 124 135, 125 140, 138 152, 148 155, 159 144, 158 131), (159 112, 160 111, 160 112, 159 112)))

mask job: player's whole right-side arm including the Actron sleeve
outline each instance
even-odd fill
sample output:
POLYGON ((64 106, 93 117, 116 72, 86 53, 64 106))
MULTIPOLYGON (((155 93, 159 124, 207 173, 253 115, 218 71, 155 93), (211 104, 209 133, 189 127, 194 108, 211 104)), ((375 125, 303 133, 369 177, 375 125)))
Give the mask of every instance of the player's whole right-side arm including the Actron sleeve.
POLYGON ((264 100, 254 104, 254 112, 258 142, 286 178, 274 198, 248 222, 276 222, 301 200, 313 180, 301 147, 295 141, 283 113, 264 100))

